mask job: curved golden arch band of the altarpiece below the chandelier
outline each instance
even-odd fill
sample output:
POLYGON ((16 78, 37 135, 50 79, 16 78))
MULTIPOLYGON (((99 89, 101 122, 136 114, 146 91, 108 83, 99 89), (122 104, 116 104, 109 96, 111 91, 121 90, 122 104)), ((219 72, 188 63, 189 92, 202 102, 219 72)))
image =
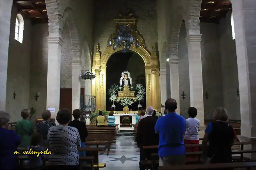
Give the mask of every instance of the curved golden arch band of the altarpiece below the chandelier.
MULTIPOLYGON (((104 66, 106 67, 106 63, 108 62, 108 59, 110 58, 111 55, 113 55, 114 53, 116 53, 117 51, 121 51, 122 48, 119 47, 116 50, 113 49, 113 47, 107 47, 106 50, 102 53, 101 55, 101 60, 100 60, 100 66, 104 66)), ((150 57, 150 53, 147 51, 147 49, 139 46, 138 48, 136 48, 134 45, 132 45, 130 47, 131 51, 134 51, 136 53, 138 53, 138 55, 140 55, 140 57, 142 57, 145 66, 152 66, 152 59, 150 57)))

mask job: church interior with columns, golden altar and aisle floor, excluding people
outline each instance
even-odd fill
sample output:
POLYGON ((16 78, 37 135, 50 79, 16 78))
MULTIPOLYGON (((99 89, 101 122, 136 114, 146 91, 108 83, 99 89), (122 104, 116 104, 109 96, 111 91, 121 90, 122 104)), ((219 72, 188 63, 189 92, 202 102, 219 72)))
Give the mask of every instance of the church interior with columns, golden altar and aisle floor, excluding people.
MULTIPOLYGON (((0 110, 10 122, 23 109, 36 120, 67 108, 88 125, 92 111, 114 111, 134 129, 139 110, 163 115, 174 98, 185 118, 196 107, 200 137, 221 106, 240 140, 256 138, 254 0, 2 0, 0 25, 0 110)), ((130 129, 115 153, 99 155, 104 170, 138 169, 130 129)))

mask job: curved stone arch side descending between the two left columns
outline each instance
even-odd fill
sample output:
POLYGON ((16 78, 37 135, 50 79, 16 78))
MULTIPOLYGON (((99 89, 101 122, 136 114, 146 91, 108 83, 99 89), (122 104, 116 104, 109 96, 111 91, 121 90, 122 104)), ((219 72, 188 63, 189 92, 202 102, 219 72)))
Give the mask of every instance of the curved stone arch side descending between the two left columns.
POLYGON ((63 21, 67 23, 70 31, 72 59, 81 59, 79 36, 74 20, 74 11, 67 7, 63 13, 63 21))

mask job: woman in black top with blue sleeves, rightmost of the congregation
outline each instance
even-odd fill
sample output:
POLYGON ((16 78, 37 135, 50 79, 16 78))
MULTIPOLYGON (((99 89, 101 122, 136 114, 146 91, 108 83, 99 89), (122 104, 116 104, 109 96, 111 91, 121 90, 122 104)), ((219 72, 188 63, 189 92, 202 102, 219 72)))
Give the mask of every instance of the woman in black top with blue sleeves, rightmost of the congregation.
POLYGON ((205 129, 202 158, 210 158, 211 163, 232 162, 231 147, 236 139, 236 134, 233 127, 227 123, 226 109, 218 107, 214 112, 214 119, 216 121, 209 123, 205 129))

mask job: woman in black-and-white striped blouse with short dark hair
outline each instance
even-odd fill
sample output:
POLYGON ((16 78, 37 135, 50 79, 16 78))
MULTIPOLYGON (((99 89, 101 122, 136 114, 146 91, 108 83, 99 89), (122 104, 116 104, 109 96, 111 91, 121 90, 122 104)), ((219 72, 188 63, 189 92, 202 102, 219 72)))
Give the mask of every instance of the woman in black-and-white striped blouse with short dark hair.
POLYGON ((68 109, 60 109, 56 116, 60 124, 49 128, 47 145, 52 154, 48 156, 48 170, 79 170, 78 149, 81 139, 78 129, 68 126, 71 119, 68 109))

